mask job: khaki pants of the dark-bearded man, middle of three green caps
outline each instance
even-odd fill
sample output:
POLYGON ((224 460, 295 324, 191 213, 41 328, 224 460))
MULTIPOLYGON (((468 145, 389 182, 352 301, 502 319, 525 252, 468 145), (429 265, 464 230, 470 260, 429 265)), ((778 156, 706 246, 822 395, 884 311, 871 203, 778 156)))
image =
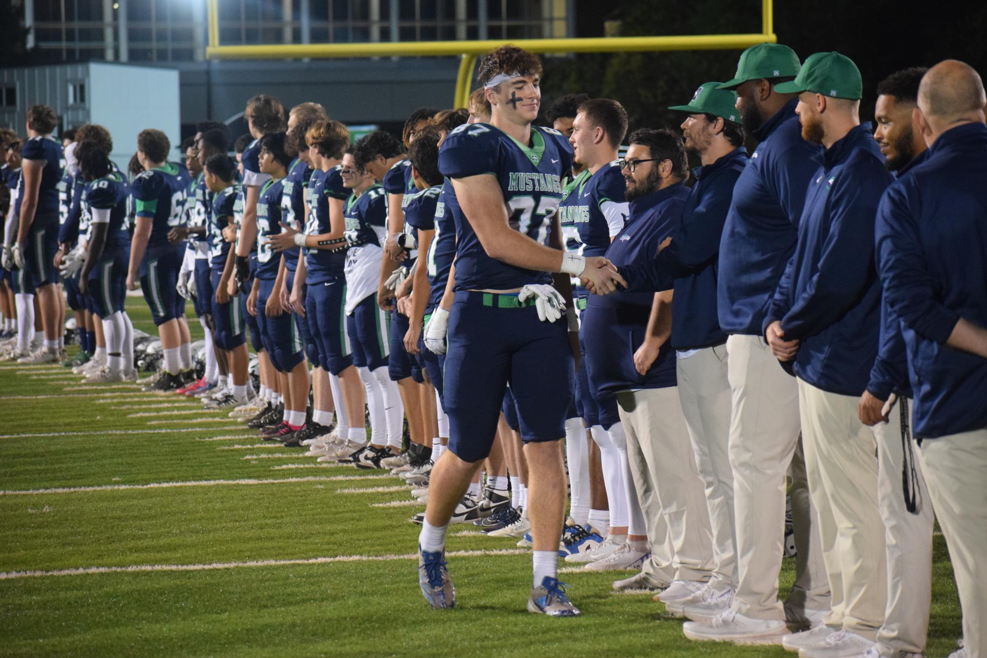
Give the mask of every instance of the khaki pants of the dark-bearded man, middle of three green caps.
POLYGON ((797 610, 829 609, 815 513, 799 458, 798 387, 756 335, 726 339, 730 382, 729 458, 733 469, 737 593, 733 609, 758 620, 785 620, 778 573, 785 549, 786 475, 792 467, 792 512, 798 559, 789 601, 797 610))

